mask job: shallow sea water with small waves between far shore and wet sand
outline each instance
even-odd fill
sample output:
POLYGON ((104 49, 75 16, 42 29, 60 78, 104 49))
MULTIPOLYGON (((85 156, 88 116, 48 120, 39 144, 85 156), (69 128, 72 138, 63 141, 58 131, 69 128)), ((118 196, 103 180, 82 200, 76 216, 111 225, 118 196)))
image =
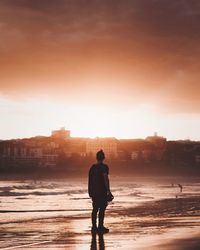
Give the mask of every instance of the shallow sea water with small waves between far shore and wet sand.
MULTIPOLYGON (((200 194, 199 178, 111 177, 114 201, 108 210, 200 194), (178 184, 183 186, 181 192, 178 184)), ((91 212, 87 179, 0 181, 0 223, 84 215, 91 212)))

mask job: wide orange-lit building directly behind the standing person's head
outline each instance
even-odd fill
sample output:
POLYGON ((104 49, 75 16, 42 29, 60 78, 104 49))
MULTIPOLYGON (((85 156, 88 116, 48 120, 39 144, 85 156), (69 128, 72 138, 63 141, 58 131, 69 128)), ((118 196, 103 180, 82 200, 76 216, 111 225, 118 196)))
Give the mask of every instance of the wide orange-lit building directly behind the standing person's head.
POLYGON ((95 138, 88 139, 86 142, 86 154, 96 155, 97 151, 103 150, 107 158, 117 157, 117 139, 116 138, 95 138))

